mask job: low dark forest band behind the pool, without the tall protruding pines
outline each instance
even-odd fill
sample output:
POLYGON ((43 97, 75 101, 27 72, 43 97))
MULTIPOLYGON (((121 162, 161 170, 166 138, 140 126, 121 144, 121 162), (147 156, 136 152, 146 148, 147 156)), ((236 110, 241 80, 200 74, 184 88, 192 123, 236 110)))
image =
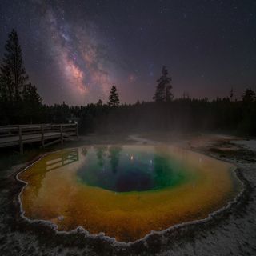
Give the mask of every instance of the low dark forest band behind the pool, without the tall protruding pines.
POLYGON ((256 135, 256 101, 250 98, 176 98, 170 102, 137 102, 110 106, 99 101, 86 106, 68 106, 65 102, 41 105, 37 110, 7 114, 1 111, 1 125, 27 123, 78 122, 79 133, 176 131, 222 132, 256 135))

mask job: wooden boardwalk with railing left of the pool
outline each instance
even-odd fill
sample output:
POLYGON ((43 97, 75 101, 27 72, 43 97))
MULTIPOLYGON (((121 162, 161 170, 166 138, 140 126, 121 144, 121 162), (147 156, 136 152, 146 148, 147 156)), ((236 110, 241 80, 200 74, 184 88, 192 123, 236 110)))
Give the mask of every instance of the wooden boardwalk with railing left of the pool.
POLYGON ((0 147, 19 146, 21 153, 25 143, 41 142, 45 147, 75 138, 78 138, 77 124, 0 126, 0 147))

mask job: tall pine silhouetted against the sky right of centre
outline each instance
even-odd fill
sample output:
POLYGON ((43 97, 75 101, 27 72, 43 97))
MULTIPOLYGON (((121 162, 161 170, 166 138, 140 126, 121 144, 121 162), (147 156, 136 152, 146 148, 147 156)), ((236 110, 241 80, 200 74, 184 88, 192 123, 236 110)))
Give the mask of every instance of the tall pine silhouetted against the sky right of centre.
POLYGON ((170 84, 171 77, 168 76, 168 70, 166 66, 162 66, 162 76, 157 80, 158 86, 154 93, 155 102, 170 102, 174 98, 173 94, 170 92, 172 86, 170 84))

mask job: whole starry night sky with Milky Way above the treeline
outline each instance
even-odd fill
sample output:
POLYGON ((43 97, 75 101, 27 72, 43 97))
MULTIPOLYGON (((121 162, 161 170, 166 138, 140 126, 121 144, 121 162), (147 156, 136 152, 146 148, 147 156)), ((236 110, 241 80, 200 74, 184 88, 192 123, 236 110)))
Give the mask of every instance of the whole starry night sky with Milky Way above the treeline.
POLYGON ((1 0, 0 56, 18 31, 46 104, 150 101, 166 65, 174 97, 256 90, 254 0, 1 0))

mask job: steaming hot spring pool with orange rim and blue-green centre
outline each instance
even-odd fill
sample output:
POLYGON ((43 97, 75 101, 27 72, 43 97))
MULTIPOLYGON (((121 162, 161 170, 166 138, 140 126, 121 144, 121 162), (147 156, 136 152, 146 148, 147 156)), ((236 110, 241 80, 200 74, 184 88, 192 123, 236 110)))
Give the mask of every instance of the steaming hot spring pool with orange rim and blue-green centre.
POLYGON ((47 154, 18 178, 27 218, 134 242, 226 206, 242 188, 234 169, 174 146, 102 145, 47 154))

